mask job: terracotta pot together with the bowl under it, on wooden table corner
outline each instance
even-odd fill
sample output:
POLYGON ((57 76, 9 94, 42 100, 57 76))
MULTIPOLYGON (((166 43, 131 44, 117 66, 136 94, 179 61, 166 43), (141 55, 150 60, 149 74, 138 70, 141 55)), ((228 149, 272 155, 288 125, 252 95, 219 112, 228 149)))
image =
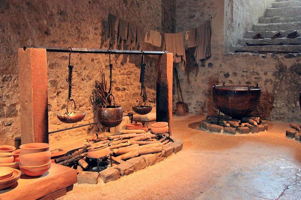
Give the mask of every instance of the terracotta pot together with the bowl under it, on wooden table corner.
POLYGON ((28 176, 40 176, 51 167, 50 145, 47 143, 29 143, 20 146, 20 170, 28 176))

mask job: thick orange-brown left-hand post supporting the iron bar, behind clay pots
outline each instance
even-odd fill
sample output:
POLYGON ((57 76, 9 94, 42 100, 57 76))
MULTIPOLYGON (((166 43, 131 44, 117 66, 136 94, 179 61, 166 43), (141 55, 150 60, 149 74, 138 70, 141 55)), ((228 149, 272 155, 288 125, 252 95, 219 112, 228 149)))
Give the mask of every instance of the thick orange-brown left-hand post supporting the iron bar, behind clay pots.
POLYGON ((48 143, 46 49, 18 49, 21 143, 48 143))

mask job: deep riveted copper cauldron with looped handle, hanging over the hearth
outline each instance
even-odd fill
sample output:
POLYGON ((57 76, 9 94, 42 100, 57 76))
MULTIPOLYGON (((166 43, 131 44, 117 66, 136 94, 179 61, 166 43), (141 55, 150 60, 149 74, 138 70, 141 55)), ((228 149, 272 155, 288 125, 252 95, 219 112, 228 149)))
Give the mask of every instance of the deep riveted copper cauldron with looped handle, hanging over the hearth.
MULTIPOLYGON (((114 96, 112 94, 109 94, 107 98, 109 96, 113 97, 114 100, 113 106, 105 105, 105 106, 98 107, 97 118, 98 118, 98 122, 104 127, 116 127, 122 122, 123 111, 121 106, 118 106, 115 103, 114 96)), ((107 98, 105 104, 107 103, 107 98)))

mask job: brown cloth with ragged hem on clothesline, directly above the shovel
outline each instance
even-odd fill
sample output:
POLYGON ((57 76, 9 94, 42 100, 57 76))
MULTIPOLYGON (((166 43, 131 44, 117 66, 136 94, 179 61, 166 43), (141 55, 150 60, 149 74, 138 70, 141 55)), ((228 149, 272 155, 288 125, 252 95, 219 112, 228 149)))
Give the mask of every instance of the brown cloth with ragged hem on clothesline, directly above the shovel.
POLYGON ((186 55, 183 41, 183 33, 164 33, 163 51, 173 53, 173 62, 182 62, 181 69, 186 65, 186 55))

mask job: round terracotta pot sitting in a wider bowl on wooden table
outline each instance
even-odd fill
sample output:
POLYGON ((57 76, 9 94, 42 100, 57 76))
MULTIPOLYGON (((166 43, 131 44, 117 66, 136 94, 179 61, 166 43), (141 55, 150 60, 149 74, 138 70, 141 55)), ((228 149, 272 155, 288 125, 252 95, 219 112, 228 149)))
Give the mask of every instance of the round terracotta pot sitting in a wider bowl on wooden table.
POLYGON ((51 152, 47 143, 29 143, 20 146, 20 164, 23 166, 40 166, 49 163, 51 152))

